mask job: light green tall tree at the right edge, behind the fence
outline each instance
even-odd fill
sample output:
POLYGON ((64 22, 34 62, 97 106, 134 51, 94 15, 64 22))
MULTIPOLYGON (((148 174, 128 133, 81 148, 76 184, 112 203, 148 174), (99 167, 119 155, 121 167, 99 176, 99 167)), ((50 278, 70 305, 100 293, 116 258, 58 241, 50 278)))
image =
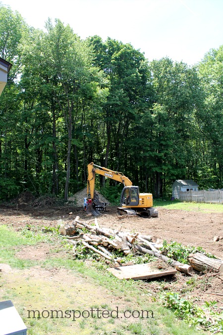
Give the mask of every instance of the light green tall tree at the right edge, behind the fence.
POLYGON ((207 169, 218 176, 212 187, 223 187, 223 46, 211 49, 199 64, 199 76, 205 92, 204 106, 196 116, 204 141, 209 142, 207 169))

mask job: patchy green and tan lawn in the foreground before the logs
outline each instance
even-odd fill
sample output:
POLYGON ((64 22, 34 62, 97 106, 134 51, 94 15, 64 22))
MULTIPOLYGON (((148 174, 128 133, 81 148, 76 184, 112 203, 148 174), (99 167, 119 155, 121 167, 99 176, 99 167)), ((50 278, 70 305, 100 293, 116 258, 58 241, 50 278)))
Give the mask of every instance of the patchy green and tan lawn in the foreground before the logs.
POLYGON ((82 261, 73 261, 69 253, 64 253, 63 257, 55 255, 47 260, 17 262, 16 252, 20 248, 38 242, 51 243, 51 246, 55 243, 56 249, 64 252, 64 246, 58 246, 58 235, 42 234, 42 236, 41 239, 39 233, 32 234, 31 231, 24 236, 6 226, 0 226, 0 263, 8 264, 12 268, 12 272, 2 272, 0 276, 0 300, 12 300, 28 328, 28 335, 204 334, 193 327, 188 327, 177 319, 173 312, 163 307, 158 295, 143 288, 143 281, 119 280, 108 273, 101 263, 95 262, 97 267, 92 267, 82 261), (35 276, 37 266, 46 276, 35 276), (48 271, 54 269, 67 271, 64 272, 64 279, 56 282, 56 285, 51 277, 49 279, 47 277, 48 271), (67 275, 71 277, 70 282, 65 279, 67 275), (101 295, 97 292, 101 292, 101 295), (111 311, 115 306, 120 306, 122 314, 125 310, 130 312, 152 310, 154 319, 82 318, 72 323, 69 319, 27 318, 27 310, 32 309, 49 308, 65 311, 75 307, 83 311, 93 307, 111 311))

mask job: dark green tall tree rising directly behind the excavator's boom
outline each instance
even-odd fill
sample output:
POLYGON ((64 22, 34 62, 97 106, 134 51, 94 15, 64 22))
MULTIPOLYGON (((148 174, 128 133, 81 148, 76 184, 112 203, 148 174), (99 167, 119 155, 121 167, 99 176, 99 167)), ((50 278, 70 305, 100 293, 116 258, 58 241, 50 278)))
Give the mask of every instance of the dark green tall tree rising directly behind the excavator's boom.
MULTIPOLYGON (((102 161, 114 170, 122 167, 129 172, 127 152, 128 137, 137 122, 137 113, 148 108, 148 65, 144 55, 130 44, 98 36, 90 39, 95 51, 95 63, 110 81, 110 91, 104 106, 105 140, 102 161)), ((104 181, 103 181, 104 183, 104 181)))

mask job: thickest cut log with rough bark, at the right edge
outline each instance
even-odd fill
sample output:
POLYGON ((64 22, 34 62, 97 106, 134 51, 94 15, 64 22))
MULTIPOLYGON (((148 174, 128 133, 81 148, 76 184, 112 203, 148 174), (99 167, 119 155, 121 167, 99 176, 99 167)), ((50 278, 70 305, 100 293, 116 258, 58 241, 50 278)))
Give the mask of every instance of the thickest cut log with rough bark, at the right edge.
POLYGON ((197 271, 211 270, 223 273, 223 260, 210 258, 202 253, 191 254, 188 257, 190 265, 197 271))

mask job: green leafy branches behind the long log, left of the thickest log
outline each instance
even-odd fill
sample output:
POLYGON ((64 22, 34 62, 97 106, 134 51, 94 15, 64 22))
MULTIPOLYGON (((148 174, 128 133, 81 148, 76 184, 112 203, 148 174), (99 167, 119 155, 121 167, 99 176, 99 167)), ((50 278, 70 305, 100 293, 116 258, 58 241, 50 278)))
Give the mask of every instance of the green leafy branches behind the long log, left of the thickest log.
POLYGON ((173 260, 183 264, 189 264, 187 260, 188 256, 196 252, 203 253, 211 258, 216 258, 214 255, 206 253, 202 247, 185 247, 178 242, 167 243, 166 240, 164 240, 163 242, 163 247, 161 248, 161 251, 162 254, 166 255, 167 257, 172 258, 173 260))

